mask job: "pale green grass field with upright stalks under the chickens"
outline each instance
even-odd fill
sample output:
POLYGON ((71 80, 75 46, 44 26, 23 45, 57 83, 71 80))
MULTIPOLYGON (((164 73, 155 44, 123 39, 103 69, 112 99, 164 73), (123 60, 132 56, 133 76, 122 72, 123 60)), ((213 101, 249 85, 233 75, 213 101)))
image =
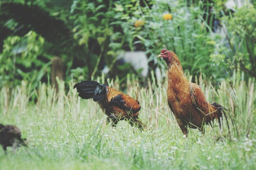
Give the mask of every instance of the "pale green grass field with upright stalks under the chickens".
MULTIPOLYGON (((191 76, 188 76, 191 79, 191 76)), ((102 77, 102 79, 104 79, 102 77)), ((101 78, 98 78, 101 82, 101 78)), ((58 95, 51 86, 38 90, 22 82, 16 89, 2 88, 0 122, 14 124, 29 140, 29 148, 8 155, 0 149, 0 170, 254 170, 256 167, 256 89, 254 80, 243 81, 243 74, 213 87, 197 81, 209 102, 230 109, 231 135, 218 124, 206 126, 206 133, 190 130, 184 138, 168 108, 166 82, 140 87, 128 78, 128 95, 141 104, 139 118, 149 128, 140 132, 126 121, 116 128, 105 123, 106 116, 97 103, 83 100, 72 89, 58 95), (29 101, 36 95, 36 102, 29 101), (233 123, 231 122, 231 118, 233 123)), ((119 88, 119 80, 110 81, 119 88)))

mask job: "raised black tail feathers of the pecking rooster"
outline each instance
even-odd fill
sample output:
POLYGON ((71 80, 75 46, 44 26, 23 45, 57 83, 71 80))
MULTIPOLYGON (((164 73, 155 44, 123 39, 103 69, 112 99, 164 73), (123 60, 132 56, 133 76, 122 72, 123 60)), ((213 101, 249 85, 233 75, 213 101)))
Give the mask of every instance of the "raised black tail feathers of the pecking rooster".
POLYGON ((74 88, 76 88, 81 98, 93 98, 94 102, 101 101, 106 95, 106 85, 101 85, 95 81, 83 81, 75 84, 74 88))

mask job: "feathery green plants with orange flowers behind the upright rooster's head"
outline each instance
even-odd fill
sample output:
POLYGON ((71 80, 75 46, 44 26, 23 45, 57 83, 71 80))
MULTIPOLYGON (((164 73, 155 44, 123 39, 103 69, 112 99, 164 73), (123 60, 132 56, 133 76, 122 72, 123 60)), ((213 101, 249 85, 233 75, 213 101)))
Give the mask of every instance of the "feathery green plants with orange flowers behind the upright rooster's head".
POLYGON ((167 48, 179 56, 183 68, 192 75, 203 71, 207 76, 219 76, 217 68, 209 62, 214 44, 200 6, 188 7, 185 2, 164 0, 151 2, 151 8, 147 5, 141 8, 139 1, 132 2, 133 5, 127 1, 115 3, 115 18, 121 18, 115 24, 121 26, 131 50, 140 44, 149 60, 166 68, 164 61, 156 60, 156 56, 161 49, 167 48), (166 20, 166 16, 169 19, 166 20), (145 23, 136 26, 139 20, 145 23))

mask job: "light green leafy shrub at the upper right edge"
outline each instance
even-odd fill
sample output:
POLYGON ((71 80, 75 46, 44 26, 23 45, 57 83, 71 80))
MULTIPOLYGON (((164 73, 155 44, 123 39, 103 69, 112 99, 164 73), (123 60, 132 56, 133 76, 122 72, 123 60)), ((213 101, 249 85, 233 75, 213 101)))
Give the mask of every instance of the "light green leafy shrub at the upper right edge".
MULTIPOLYGON (((223 13, 223 11, 222 11, 223 13)), ((211 61, 227 69, 238 69, 256 77, 256 9, 253 5, 236 9, 231 18, 221 17, 227 27, 227 42, 211 55, 211 61)))

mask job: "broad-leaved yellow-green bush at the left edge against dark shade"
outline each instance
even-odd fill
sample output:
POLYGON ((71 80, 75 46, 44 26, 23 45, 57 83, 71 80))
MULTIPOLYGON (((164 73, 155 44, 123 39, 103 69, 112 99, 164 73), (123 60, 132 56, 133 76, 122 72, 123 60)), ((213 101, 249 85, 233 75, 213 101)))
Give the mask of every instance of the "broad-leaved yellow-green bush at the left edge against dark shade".
POLYGON ((23 79, 34 88, 49 72, 49 58, 38 60, 38 56, 43 55, 43 44, 43 37, 34 31, 29 31, 24 37, 9 36, 4 40, 0 53, 0 86, 13 87, 23 79))

